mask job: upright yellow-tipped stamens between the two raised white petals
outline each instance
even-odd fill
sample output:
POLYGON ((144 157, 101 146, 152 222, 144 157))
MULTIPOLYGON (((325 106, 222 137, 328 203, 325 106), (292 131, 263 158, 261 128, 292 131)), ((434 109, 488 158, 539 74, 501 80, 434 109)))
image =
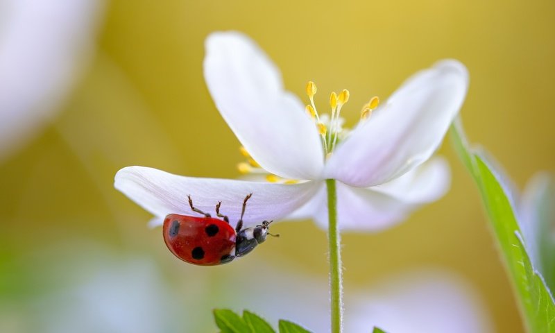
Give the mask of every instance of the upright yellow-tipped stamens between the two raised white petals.
MULTIPOLYGON (((316 128, 318 128, 318 133, 320 133, 322 139, 324 155, 327 159, 332 154, 336 145, 349 134, 349 130, 343 128, 345 119, 340 117, 343 105, 349 101, 349 91, 343 89, 339 95, 332 92, 332 94, 330 94, 330 107, 332 111, 330 115, 322 114, 321 116, 318 115, 318 110, 316 110, 316 105, 314 104, 314 95, 316 91, 316 84, 309 81, 309 83, 307 83, 307 95, 310 99, 310 104, 307 105, 306 110, 314 120, 314 123, 316 123, 316 128)), ((372 114, 372 111, 377 108, 377 105, 379 105, 379 99, 377 96, 374 96, 362 107, 360 114, 361 121, 366 121, 366 119, 370 117, 370 114, 372 114)))

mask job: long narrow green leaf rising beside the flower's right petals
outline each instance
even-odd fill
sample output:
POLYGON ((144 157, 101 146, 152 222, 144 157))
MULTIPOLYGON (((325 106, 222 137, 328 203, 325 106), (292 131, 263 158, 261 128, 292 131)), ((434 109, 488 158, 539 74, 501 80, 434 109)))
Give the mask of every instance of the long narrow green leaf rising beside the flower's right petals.
POLYGON ((495 238, 518 299, 529 332, 555 331, 555 302, 543 279, 531 266, 520 238, 520 228, 511 198, 511 189, 502 171, 484 153, 468 146, 459 120, 451 128, 454 146, 470 171, 481 194, 495 238))

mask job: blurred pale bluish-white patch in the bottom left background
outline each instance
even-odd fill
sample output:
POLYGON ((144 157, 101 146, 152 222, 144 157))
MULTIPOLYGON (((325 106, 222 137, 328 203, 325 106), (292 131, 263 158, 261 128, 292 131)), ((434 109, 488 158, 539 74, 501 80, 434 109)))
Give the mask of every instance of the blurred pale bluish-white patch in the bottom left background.
POLYGON ((176 332, 178 320, 190 320, 155 263, 107 258, 94 268, 80 284, 37 303, 42 332, 176 332))

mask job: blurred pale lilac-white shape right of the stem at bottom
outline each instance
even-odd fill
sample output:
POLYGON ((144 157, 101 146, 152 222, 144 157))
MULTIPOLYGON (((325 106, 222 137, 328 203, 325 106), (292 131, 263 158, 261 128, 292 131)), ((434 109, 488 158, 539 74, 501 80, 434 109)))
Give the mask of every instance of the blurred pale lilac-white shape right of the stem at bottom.
POLYGON ((495 332, 480 294, 461 277, 429 268, 398 274, 346 297, 345 332, 495 332))

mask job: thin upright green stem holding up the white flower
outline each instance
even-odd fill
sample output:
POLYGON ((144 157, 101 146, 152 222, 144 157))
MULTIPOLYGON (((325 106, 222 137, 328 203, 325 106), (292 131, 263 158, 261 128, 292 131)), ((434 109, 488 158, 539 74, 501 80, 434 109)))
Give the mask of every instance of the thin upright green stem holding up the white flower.
POLYGON ((343 284, 341 282, 341 237, 337 225, 337 194, 335 180, 325 180, 327 187, 327 240, 330 248, 330 293, 332 302, 332 333, 343 329, 343 284))

